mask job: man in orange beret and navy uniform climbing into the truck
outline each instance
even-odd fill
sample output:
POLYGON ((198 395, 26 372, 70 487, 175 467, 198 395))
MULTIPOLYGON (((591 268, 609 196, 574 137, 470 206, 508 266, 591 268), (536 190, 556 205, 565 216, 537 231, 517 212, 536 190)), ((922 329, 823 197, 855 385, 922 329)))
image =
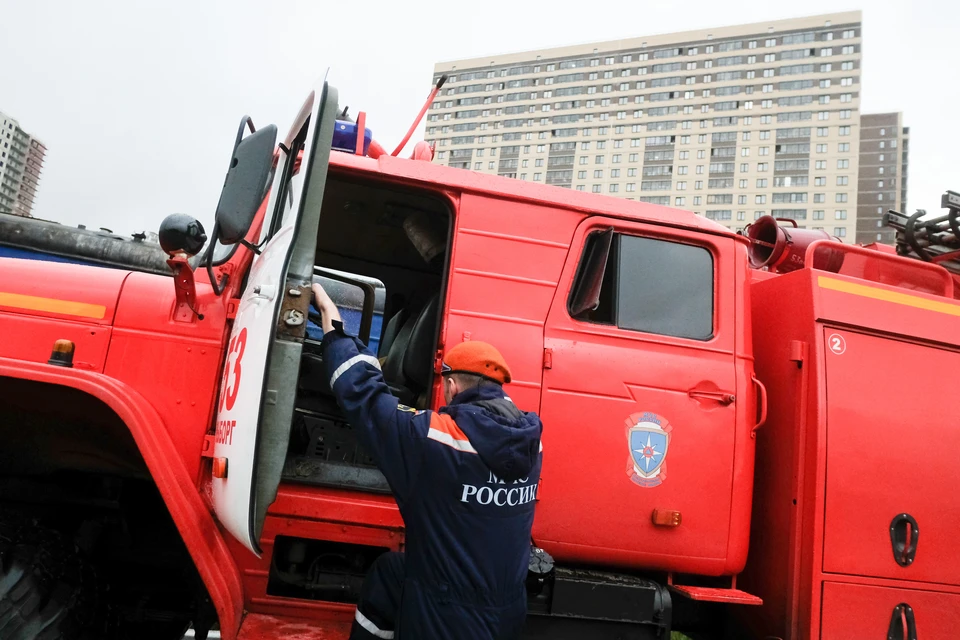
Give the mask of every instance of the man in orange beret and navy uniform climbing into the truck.
POLYGON ((483 342, 450 349, 446 406, 398 403, 380 363, 344 333, 313 285, 323 360, 340 407, 386 476, 406 525, 406 550, 385 553, 364 581, 350 637, 517 638, 526 616, 543 426, 504 393, 510 369, 483 342))

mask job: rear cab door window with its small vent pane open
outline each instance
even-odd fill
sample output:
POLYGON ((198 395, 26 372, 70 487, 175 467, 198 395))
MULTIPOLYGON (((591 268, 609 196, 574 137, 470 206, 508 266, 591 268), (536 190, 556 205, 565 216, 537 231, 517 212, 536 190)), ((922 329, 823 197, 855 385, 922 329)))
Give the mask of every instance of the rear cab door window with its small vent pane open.
POLYGON ((585 322, 709 340, 713 298, 707 249, 608 229, 587 236, 568 310, 585 322))

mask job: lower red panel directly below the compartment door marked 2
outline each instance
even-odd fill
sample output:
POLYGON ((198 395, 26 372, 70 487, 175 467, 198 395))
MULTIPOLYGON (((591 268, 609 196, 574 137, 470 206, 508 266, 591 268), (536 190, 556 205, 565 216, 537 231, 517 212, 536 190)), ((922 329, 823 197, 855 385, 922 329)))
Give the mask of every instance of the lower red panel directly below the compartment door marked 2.
POLYGON ((913 609, 918 640, 952 640, 957 637, 960 595, 825 582, 820 638, 886 639, 893 610, 901 603, 913 609))

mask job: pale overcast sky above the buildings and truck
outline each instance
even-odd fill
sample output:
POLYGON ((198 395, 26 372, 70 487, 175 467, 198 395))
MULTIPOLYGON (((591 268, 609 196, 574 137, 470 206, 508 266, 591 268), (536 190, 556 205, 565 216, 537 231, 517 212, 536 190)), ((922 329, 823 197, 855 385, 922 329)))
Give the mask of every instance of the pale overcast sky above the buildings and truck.
POLYGON ((286 131, 328 67, 341 105, 392 148, 436 61, 852 9, 864 11, 861 108, 903 111, 910 127, 909 207, 960 190, 955 1, 4 5, 0 111, 48 148, 34 215, 71 225, 131 233, 180 212, 209 230, 240 117, 286 131))

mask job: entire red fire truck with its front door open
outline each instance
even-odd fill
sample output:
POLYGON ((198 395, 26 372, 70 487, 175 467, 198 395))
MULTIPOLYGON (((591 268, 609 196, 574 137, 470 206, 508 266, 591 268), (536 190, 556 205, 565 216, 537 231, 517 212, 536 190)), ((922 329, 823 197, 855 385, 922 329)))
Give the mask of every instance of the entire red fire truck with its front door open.
POLYGON ((326 83, 279 140, 245 118, 206 249, 164 222, 172 277, 0 259, 0 638, 346 637, 404 526, 307 330, 318 278, 403 403, 485 340, 542 416, 528 637, 957 637, 947 269, 364 121, 326 83))

